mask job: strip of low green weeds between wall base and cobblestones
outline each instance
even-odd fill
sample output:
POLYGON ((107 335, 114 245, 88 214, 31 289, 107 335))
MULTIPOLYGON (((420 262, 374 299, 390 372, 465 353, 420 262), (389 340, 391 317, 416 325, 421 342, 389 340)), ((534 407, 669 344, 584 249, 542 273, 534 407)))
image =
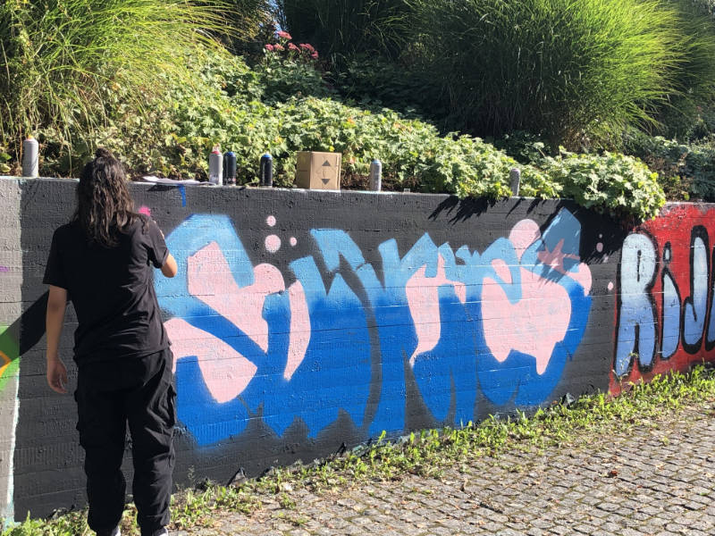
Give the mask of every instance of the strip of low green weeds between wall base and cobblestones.
MULTIPOLYGON (((273 468, 263 477, 240 485, 204 483, 172 498, 172 528, 210 527, 217 511, 249 514, 271 498, 284 509, 293 509, 295 490, 330 491, 366 481, 396 480, 407 473, 439 477, 442 468, 463 466, 477 456, 499 456, 510 449, 559 445, 594 434, 616 434, 635 426, 657 426, 657 419, 682 406, 715 401, 715 370, 697 366, 690 373, 657 376, 650 383, 632 386, 616 398, 599 393, 576 399, 570 405, 554 404, 533 415, 517 412, 492 416, 483 423, 463 428, 444 428, 410 433, 400 440, 385 434, 369 447, 358 447, 340 456, 316 460, 310 465, 273 468), (273 496, 273 497, 271 497, 273 496)), ((514 471, 522 468, 515 466, 514 471)), ((122 534, 137 536, 136 508, 129 505, 122 518, 122 534)), ((89 536, 86 511, 70 512, 48 520, 27 520, 6 529, 2 536, 89 536)), ((299 515, 290 522, 303 523, 299 515)))

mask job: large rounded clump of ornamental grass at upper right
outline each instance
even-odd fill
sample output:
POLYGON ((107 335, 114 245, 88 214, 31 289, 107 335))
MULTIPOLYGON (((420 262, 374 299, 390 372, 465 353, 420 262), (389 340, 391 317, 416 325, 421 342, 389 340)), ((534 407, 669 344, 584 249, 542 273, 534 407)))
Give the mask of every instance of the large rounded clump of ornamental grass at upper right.
POLYGON ((609 144, 693 88, 689 57, 709 57, 696 74, 712 72, 715 40, 687 35, 677 4, 660 0, 409 4, 425 71, 449 98, 460 130, 609 144))

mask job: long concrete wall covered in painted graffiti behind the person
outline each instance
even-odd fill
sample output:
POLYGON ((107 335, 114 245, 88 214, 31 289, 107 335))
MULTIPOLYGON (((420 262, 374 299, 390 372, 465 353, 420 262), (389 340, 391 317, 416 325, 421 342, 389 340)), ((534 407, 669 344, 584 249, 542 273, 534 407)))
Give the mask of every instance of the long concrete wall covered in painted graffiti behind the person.
MULTIPOLYGON (((74 186, 0 179, 0 494, 15 518, 84 504, 74 401, 46 386, 41 284, 74 186)), ((383 430, 618 392, 715 356, 715 205, 669 205, 627 230, 568 201, 131 192, 179 263, 156 290, 183 484, 310 461, 383 430)))

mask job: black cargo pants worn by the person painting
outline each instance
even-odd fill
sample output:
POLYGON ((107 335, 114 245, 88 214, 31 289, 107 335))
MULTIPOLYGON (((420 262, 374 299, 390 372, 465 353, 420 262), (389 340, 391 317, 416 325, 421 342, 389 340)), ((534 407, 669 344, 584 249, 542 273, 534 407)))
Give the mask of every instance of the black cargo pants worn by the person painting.
POLYGON ((141 534, 153 536, 169 523, 176 423, 172 364, 168 348, 140 358, 80 364, 77 430, 85 450, 88 524, 99 535, 110 534, 122 518, 127 423, 141 534))

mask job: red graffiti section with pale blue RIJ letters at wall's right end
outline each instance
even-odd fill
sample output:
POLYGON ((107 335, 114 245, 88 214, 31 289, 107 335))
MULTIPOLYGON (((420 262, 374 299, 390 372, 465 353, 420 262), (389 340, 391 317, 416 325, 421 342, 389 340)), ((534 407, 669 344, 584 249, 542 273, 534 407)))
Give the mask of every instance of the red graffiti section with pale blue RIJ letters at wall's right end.
POLYGON ((610 392, 715 360, 715 210, 669 205, 625 240, 610 392))

